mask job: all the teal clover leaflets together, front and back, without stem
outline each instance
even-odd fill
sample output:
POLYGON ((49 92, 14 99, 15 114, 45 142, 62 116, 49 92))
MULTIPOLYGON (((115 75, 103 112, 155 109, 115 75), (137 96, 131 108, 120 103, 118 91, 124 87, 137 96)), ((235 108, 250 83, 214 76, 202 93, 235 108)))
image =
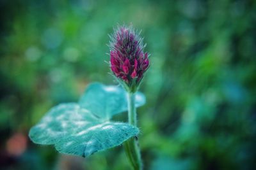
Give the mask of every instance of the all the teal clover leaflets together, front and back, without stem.
MULTIPOLYGON (((121 145, 132 136, 137 136, 139 129, 106 118, 127 110, 125 95, 120 87, 93 83, 79 103, 60 104, 46 113, 31 128, 29 138, 34 143, 54 145, 61 153, 83 157, 121 145)), ((145 103, 143 94, 138 94, 136 99, 137 106, 145 103)))

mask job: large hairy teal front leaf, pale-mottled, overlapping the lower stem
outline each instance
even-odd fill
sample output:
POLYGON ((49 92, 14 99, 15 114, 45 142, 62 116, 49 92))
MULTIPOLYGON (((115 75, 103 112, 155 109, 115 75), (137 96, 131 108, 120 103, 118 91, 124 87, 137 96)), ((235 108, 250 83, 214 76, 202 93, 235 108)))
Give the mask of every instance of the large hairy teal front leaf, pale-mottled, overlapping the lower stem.
POLYGON ((61 153, 86 157, 121 145, 138 135, 138 128, 120 122, 102 121, 76 103, 60 104, 31 128, 34 143, 55 145, 61 153))

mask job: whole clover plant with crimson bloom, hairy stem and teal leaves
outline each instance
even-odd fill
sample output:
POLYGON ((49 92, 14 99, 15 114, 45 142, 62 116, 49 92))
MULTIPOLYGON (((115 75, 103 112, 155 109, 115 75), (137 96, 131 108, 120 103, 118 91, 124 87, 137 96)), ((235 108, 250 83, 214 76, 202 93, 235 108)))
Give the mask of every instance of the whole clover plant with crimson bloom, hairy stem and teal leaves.
POLYGON ((88 85, 78 103, 63 103, 52 108, 29 131, 29 138, 41 145, 54 145, 60 153, 87 157, 123 143, 132 167, 142 169, 136 107, 145 104, 137 92, 149 66, 148 53, 140 34, 129 26, 118 27, 111 36, 110 66, 122 84, 88 85), (128 122, 113 122, 111 117, 128 111, 128 122))

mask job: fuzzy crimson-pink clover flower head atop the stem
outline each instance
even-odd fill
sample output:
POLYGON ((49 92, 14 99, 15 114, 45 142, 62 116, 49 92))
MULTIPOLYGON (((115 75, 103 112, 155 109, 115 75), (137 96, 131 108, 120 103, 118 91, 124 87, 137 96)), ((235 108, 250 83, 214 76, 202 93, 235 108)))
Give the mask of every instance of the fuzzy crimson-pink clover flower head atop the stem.
POLYGON ((111 36, 109 47, 111 71, 126 89, 136 91, 149 66, 140 32, 122 25, 111 36))

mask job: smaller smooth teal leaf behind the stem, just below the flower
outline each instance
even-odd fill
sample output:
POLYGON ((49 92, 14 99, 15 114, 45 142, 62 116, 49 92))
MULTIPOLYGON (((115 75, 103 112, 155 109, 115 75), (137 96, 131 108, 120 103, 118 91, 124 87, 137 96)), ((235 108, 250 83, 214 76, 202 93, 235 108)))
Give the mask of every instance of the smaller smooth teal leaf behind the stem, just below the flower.
MULTIPOLYGON (((100 118, 109 120, 113 115, 127 111, 127 92, 122 87, 92 83, 81 97, 80 106, 92 111, 100 118)), ((145 104, 145 96, 136 93, 135 106, 145 104)))

